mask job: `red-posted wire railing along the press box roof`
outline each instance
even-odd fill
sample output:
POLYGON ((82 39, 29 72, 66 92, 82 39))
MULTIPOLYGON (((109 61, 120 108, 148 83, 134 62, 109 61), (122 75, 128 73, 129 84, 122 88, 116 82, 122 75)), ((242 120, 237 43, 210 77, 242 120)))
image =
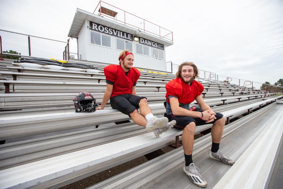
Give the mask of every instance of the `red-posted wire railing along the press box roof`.
POLYGON ((116 22, 119 21, 120 23, 122 23, 124 25, 136 27, 138 29, 143 30, 144 32, 154 34, 154 35, 158 36, 159 38, 164 38, 164 39, 167 39, 167 40, 173 42, 173 32, 172 31, 167 30, 163 27, 160 27, 160 26, 158 26, 158 25, 156 25, 152 22, 149 22, 145 19, 142 19, 142 18, 140 18, 140 17, 138 17, 134 14, 126 12, 122 9, 115 7, 115 6, 112 6, 112 5, 110 5, 106 2, 99 1, 98 5, 96 6, 96 9, 93 12, 93 14, 95 14, 95 12, 97 12, 97 14, 99 16, 103 15, 103 17, 111 18, 116 22), (101 3, 103 3, 103 4, 101 5, 101 3), (103 11, 102 11, 102 9, 103 9, 103 11), (115 9, 115 11, 113 11, 112 9, 115 9), (106 14, 105 11, 108 14, 106 14), (121 12, 120 14, 119 14, 119 11, 121 12), (126 16, 129 16, 128 20, 126 20, 126 16), (142 24, 143 24, 143 27, 141 27, 142 24), (152 28, 150 28, 150 27, 152 27, 152 28))

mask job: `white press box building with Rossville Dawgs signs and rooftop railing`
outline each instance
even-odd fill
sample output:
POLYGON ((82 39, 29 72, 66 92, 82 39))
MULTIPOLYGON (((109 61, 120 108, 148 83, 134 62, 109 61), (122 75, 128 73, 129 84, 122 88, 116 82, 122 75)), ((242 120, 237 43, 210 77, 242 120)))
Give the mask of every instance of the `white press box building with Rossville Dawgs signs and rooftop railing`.
POLYGON ((173 44, 172 32, 102 3, 99 2, 94 13, 76 10, 68 37, 77 38, 78 59, 118 64, 121 51, 129 49, 134 53, 135 67, 167 71, 165 49, 173 44), (135 27, 127 21, 136 18, 140 19, 143 27, 135 27))

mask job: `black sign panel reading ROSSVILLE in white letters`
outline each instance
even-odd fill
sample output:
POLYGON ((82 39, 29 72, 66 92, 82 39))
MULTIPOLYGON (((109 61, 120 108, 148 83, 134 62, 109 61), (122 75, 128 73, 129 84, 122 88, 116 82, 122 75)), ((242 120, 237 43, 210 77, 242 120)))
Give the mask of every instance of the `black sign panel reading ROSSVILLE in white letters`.
POLYGON ((105 34, 108 34, 108 35, 113 35, 115 37, 123 38, 123 39, 130 40, 130 41, 133 41, 133 39, 134 39, 132 34, 122 32, 122 31, 113 29, 111 27, 103 26, 101 24, 96 24, 96 23, 91 22, 91 21, 89 21, 89 26, 90 26, 89 28, 91 30, 94 30, 94 31, 97 31, 97 32, 105 33, 105 34))

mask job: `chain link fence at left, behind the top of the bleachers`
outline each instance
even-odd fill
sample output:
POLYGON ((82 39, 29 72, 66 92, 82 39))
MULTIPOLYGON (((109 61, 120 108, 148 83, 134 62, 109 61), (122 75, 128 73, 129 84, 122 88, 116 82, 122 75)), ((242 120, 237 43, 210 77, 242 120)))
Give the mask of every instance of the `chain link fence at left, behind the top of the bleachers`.
MULTIPOLYGON (((0 29, 2 38, 2 52, 16 51, 23 56, 35 56, 41 58, 66 59, 63 57, 67 42, 41 38, 17 32, 0 29)), ((68 51, 67 51, 68 53, 68 51)), ((68 56, 68 54, 65 55, 68 56)))

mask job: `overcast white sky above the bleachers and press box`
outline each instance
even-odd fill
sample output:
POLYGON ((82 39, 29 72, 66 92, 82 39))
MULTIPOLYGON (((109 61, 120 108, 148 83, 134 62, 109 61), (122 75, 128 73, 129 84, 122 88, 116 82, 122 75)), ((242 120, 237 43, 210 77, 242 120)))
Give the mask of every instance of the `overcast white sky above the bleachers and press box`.
MULTIPOLYGON (((67 41, 76 9, 98 2, 0 0, 0 29, 67 41)), ((172 31, 166 61, 261 83, 283 78, 283 0, 105 2, 172 31)))

